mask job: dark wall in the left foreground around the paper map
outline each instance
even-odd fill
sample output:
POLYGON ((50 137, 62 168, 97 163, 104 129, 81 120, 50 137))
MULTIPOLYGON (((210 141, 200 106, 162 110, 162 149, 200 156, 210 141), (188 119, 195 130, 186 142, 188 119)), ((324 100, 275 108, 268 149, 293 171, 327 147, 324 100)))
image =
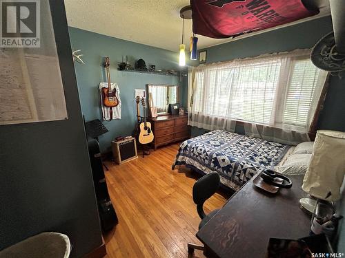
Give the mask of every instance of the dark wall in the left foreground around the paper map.
POLYGON ((48 3, 68 119, 0 126, 0 250, 56 231, 70 238, 71 258, 84 257, 101 246, 101 228, 65 8, 41 1, 42 15, 48 3))

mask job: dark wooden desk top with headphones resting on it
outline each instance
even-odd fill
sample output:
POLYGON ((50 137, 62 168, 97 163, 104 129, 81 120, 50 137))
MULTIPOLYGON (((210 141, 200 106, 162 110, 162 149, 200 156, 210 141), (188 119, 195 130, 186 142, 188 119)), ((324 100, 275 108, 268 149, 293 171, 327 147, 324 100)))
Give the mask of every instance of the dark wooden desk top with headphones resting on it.
POLYGON ((208 257, 265 257, 268 239, 306 237, 311 217, 299 208, 302 176, 293 187, 270 195, 250 180, 197 232, 208 257))

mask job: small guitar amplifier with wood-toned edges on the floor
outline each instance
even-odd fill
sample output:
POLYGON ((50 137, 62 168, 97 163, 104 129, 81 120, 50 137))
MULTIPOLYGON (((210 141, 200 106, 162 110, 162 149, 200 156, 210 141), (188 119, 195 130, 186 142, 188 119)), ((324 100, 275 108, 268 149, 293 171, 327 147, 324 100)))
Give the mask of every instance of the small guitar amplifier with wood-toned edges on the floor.
POLYGON ((112 155, 117 164, 121 164, 138 158, 137 143, 135 138, 130 137, 125 140, 112 141, 112 155))

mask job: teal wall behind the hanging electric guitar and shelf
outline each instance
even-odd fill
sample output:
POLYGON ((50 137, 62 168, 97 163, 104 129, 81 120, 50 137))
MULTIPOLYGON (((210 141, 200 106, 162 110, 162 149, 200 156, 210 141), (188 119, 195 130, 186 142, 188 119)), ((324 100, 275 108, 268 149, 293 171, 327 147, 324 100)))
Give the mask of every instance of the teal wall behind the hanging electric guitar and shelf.
MULTIPOLYGON (((157 47, 141 45, 130 41, 116 39, 110 36, 88 32, 77 28, 69 28, 70 41, 73 50, 82 50, 83 61, 86 65, 75 63, 81 109, 85 120, 101 119, 99 107, 98 85, 106 81, 102 66, 104 56, 110 57, 110 75, 112 82, 116 82, 120 89, 122 103, 121 120, 104 121, 109 132, 99 138, 101 151, 108 151, 111 140, 117 136, 129 136, 135 127, 136 104, 135 89, 145 89, 146 84, 179 85, 179 77, 121 72, 117 70, 117 63, 123 55, 128 55, 130 64, 143 58, 146 65, 155 64, 156 68, 179 69, 178 53, 162 50, 157 47)), ((186 89, 180 89, 182 104, 185 105, 186 89)))

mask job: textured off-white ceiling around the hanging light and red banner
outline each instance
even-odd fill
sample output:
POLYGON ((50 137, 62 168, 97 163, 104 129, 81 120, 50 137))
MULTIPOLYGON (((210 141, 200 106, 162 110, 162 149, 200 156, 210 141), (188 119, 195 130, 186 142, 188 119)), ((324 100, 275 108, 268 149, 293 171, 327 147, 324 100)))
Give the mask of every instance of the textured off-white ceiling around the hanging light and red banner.
MULTIPOLYGON (((189 0, 65 0, 68 25, 72 27, 172 51, 178 51, 181 43, 179 10, 188 5, 189 0)), ((326 14, 329 9, 318 17, 326 14)), ((187 45, 192 21, 185 20, 184 28, 187 45)), ((231 41, 198 37, 199 49, 231 41)))

